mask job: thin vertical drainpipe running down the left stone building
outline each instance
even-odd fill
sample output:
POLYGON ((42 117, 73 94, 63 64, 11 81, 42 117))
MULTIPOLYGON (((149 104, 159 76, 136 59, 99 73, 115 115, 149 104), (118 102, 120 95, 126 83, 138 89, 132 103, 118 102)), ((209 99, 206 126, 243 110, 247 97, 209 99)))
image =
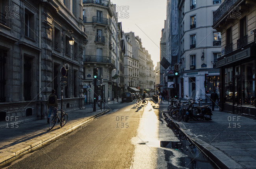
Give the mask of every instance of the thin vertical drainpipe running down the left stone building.
MULTIPOLYGON (((39 4, 39 49, 41 49, 42 45, 41 45, 41 32, 42 32, 42 27, 41 27, 41 4, 39 4)), ((41 80, 41 76, 42 76, 42 72, 41 72, 41 50, 39 51, 39 100, 42 99, 42 94, 41 94, 41 83, 42 83, 42 80, 41 80)))

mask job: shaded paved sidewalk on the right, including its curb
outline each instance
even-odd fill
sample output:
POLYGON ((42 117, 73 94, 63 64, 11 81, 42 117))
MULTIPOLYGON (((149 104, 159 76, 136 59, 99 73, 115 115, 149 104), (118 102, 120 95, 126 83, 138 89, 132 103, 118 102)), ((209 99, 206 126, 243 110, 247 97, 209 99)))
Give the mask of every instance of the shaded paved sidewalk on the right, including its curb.
MULTIPOLYGON (((160 107, 166 109, 167 105, 160 107)), ((212 120, 203 122, 169 118, 221 168, 256 169, 256 121, 232 113, 212 113, 212 120)))

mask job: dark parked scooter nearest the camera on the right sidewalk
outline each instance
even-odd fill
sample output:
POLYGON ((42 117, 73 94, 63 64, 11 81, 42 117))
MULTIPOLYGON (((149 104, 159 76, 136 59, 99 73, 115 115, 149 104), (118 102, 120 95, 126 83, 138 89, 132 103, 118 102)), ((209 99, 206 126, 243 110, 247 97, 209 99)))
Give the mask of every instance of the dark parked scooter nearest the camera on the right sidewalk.
POLYGON ((189 100, 189 106, 187 107, 186 114, 184 116, 185 122, 187 122, 190 118, 190 120, 212 120, 211 115, 211 109, 209 108, 209 105, 204 105, 204 106, 197 106, 194 107, 193 104, 195 103, 195 100, 189 100), (195 111, 195 112, 193 112, 195 111))

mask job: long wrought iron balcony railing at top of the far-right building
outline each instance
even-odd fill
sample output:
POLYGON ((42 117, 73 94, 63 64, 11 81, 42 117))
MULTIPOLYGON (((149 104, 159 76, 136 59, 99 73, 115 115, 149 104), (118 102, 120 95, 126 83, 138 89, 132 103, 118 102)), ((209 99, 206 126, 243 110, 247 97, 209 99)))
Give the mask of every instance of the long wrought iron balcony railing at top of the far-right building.
POLYGON ((213 25, 223 16, 225 13, 228 13, 230 11, 230 7, 232 7, 236 2, 239 0, 225 0, 219 8, 213 12, 213 25))

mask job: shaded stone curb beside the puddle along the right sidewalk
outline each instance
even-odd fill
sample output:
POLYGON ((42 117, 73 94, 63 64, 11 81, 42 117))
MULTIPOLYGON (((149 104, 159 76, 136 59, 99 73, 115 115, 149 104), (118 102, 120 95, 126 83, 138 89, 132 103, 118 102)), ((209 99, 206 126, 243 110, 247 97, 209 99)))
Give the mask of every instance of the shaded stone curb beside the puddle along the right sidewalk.
MULTIPOLYGON (((173 122, 171 118, 169 119, 173 122)), ((187 136, 187 138, 194 142, 197 147, 199 147, 201 151, 203 151, 208 157, 210 157, 213 162, 218 164, 221 169, 243 169, 243 166, 241 166, 235 160, 224 154, 223 151, 220 151, 216 147, 197 138, 197 136, 189 131, 182 122, 174 123, 179 127, 182 133, 187 136)))

